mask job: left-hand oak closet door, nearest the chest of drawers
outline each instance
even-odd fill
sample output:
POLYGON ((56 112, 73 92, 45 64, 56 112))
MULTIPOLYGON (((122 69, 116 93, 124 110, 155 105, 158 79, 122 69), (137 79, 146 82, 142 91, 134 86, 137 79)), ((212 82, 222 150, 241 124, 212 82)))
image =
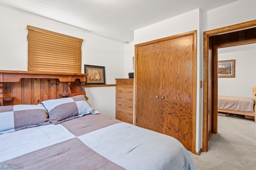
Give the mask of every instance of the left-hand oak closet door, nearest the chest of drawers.
POLYGON ((137 48, 137 125, 159 132, 159 111, 162 79, 161 43, 152 43, 137 48))

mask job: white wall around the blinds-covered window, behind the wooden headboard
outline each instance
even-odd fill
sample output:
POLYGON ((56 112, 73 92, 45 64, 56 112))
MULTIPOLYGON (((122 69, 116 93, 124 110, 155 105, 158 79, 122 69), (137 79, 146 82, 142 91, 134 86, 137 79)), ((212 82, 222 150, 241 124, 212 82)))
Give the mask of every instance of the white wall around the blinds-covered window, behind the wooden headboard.
MULTIPOLYGON (((0 6, 0 69, 27 71, 28 43, 27 25, 74 36, 82 43, 82 73, 84 64, 105 66, 106 84, 115 84, 115 78, 124 76, 124 44, 102 38, 36 16, 24 14, 0 6)), ((102 114, 114 117, 115 86, 92 87, 88 89, 90 104, 102 114), (101 92, 100 94, 98 92, 101 92), (102 105, 100 105, 102 103, 102 105), (107 106, 102 109, 102 106, 107 106)))

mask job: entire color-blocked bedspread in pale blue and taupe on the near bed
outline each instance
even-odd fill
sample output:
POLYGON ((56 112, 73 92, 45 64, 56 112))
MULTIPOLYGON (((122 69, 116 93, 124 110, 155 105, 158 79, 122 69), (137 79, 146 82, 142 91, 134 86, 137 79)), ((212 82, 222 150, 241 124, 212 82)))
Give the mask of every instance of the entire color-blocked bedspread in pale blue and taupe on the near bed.
POLYGON ((100 114, 1 134, 0 150, 28 170, 196 170, 175 138, 100 114))

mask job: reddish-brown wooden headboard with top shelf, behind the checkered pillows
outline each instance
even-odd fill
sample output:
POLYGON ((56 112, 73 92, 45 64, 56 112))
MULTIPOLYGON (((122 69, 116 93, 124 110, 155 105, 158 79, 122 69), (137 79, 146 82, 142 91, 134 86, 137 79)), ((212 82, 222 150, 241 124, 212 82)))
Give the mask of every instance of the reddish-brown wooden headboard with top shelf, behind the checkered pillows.
POLYGON ((86 95, 86 75, 0 70, 0 106, 37 105, 48 99, 86 95))

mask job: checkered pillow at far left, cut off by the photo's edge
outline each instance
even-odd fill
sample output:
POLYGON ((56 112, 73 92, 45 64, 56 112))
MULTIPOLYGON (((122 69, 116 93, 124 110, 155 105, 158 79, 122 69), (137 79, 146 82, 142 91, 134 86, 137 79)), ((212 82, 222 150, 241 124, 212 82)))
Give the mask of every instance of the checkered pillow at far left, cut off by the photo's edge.
POLYGON ((42 104, 0 107, 0 134, 51 124, 42 104))

